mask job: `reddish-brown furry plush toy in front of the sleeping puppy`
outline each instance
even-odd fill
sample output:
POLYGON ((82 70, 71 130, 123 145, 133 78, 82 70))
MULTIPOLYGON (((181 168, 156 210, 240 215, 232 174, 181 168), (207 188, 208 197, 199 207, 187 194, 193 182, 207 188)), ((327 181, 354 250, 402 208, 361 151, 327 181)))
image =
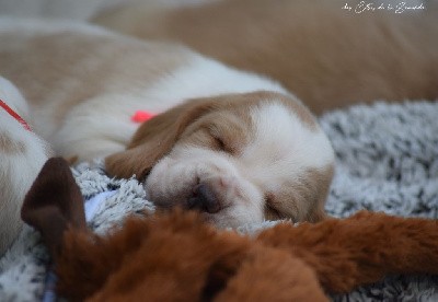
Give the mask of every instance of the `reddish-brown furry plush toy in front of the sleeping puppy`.
POLYGON ((43 167, 22 217, 42 232, 71 301, 328 301, 388 274, 438 274, 437 221, 365 211, 250 239, 174 210, 97 236, 61 159, 43 167))

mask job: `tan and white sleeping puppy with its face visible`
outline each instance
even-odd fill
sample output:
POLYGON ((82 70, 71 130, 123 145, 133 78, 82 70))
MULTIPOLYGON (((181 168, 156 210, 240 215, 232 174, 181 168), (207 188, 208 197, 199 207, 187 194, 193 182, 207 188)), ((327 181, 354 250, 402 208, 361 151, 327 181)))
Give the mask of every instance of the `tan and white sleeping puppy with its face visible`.
POLYGON ((3 20, 0 33, 2 72, 57 155, 105 158, 159 207, 198 209, 218 226, 324 217, 333 150, 278 83, 91 25, 3 20), (137 111, 158 115, 138 124, 137 111))

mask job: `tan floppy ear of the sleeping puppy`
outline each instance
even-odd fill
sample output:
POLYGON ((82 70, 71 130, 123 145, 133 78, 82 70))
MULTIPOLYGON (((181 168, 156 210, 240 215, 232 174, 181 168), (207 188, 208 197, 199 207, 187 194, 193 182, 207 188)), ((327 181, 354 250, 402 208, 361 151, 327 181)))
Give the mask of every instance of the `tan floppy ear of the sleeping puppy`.
POLYGON ((134 135, 126 151, 105 159, 110 175, 143 179, 152 166, 169 153, 184 129, 215 107, 216 102, 191 100, 145 121, 134 135))

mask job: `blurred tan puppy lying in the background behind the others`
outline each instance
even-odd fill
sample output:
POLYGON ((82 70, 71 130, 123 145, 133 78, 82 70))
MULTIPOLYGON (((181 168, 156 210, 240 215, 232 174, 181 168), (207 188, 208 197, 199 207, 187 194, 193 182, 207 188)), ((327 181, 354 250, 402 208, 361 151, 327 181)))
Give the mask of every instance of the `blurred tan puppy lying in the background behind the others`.
POLYGON ((141 38, 180 42, 266 74, 315 114, 358 102, 438 98, 436 1, 418 7, 385 0, 138 2, 103 11, 94 22, 141 38))

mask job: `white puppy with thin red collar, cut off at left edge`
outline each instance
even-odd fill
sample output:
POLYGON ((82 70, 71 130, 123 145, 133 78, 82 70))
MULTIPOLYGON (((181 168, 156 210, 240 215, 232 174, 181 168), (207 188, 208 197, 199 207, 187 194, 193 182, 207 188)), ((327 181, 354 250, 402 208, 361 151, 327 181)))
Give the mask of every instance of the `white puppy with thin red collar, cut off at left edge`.
POLYGON ((48 146, 26 120, 26 102, 10 81, 0 77, 0 256, 21 230, 24 196, 50 155, 48 146))

